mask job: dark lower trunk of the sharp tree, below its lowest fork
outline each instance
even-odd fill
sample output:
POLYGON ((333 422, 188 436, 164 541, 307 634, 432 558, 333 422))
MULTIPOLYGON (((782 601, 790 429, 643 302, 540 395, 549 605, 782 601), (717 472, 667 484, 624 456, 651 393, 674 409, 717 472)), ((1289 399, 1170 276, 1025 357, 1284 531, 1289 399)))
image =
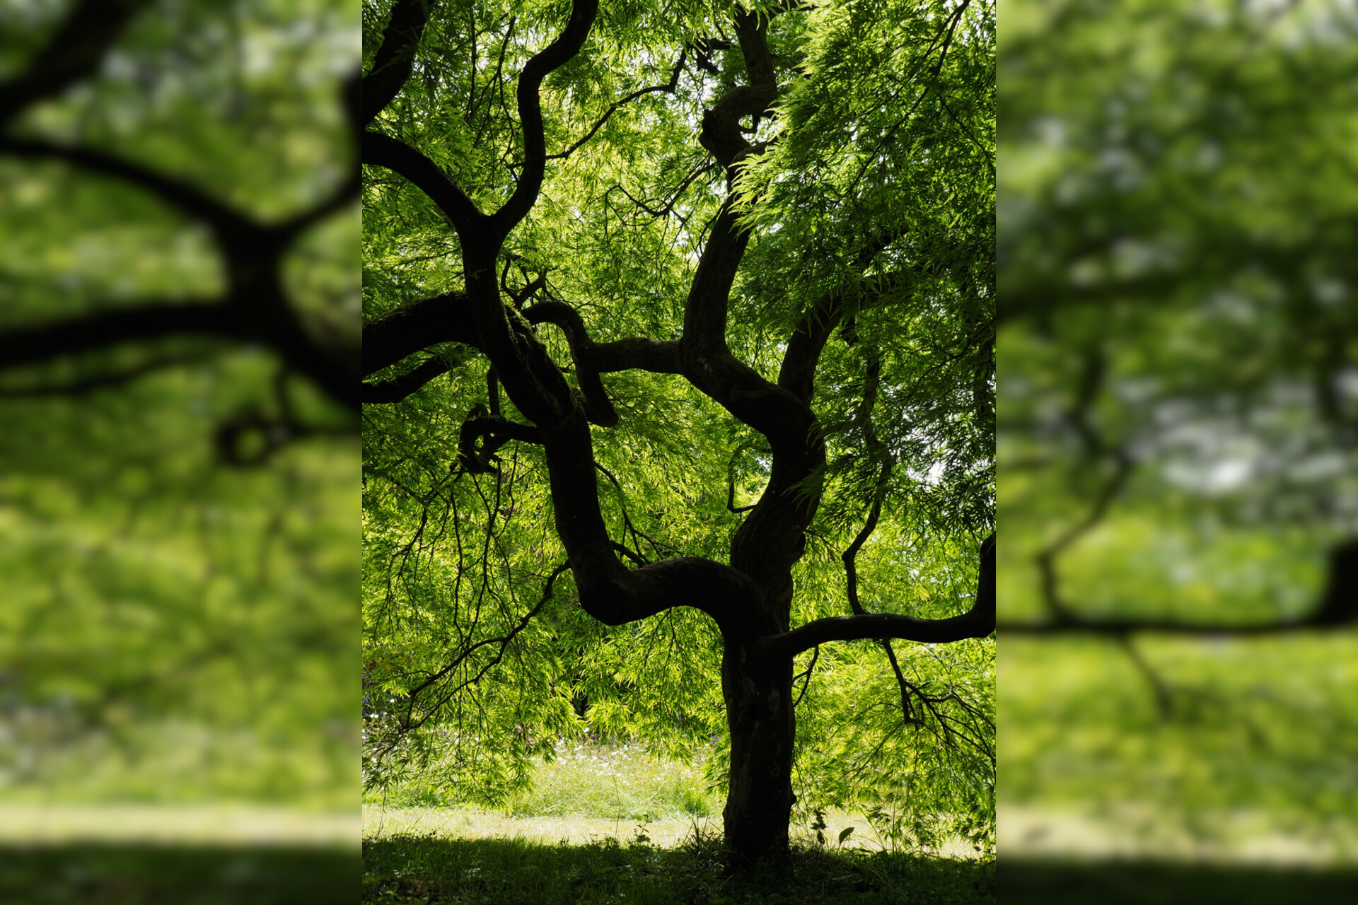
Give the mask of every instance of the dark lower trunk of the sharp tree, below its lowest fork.
POLYGON ((755 661, 727 644, 721 689, 731 729, 731 790, 724 811, 727 845, 748 867, 788 851, 792 794, 792 658, 755 661))

